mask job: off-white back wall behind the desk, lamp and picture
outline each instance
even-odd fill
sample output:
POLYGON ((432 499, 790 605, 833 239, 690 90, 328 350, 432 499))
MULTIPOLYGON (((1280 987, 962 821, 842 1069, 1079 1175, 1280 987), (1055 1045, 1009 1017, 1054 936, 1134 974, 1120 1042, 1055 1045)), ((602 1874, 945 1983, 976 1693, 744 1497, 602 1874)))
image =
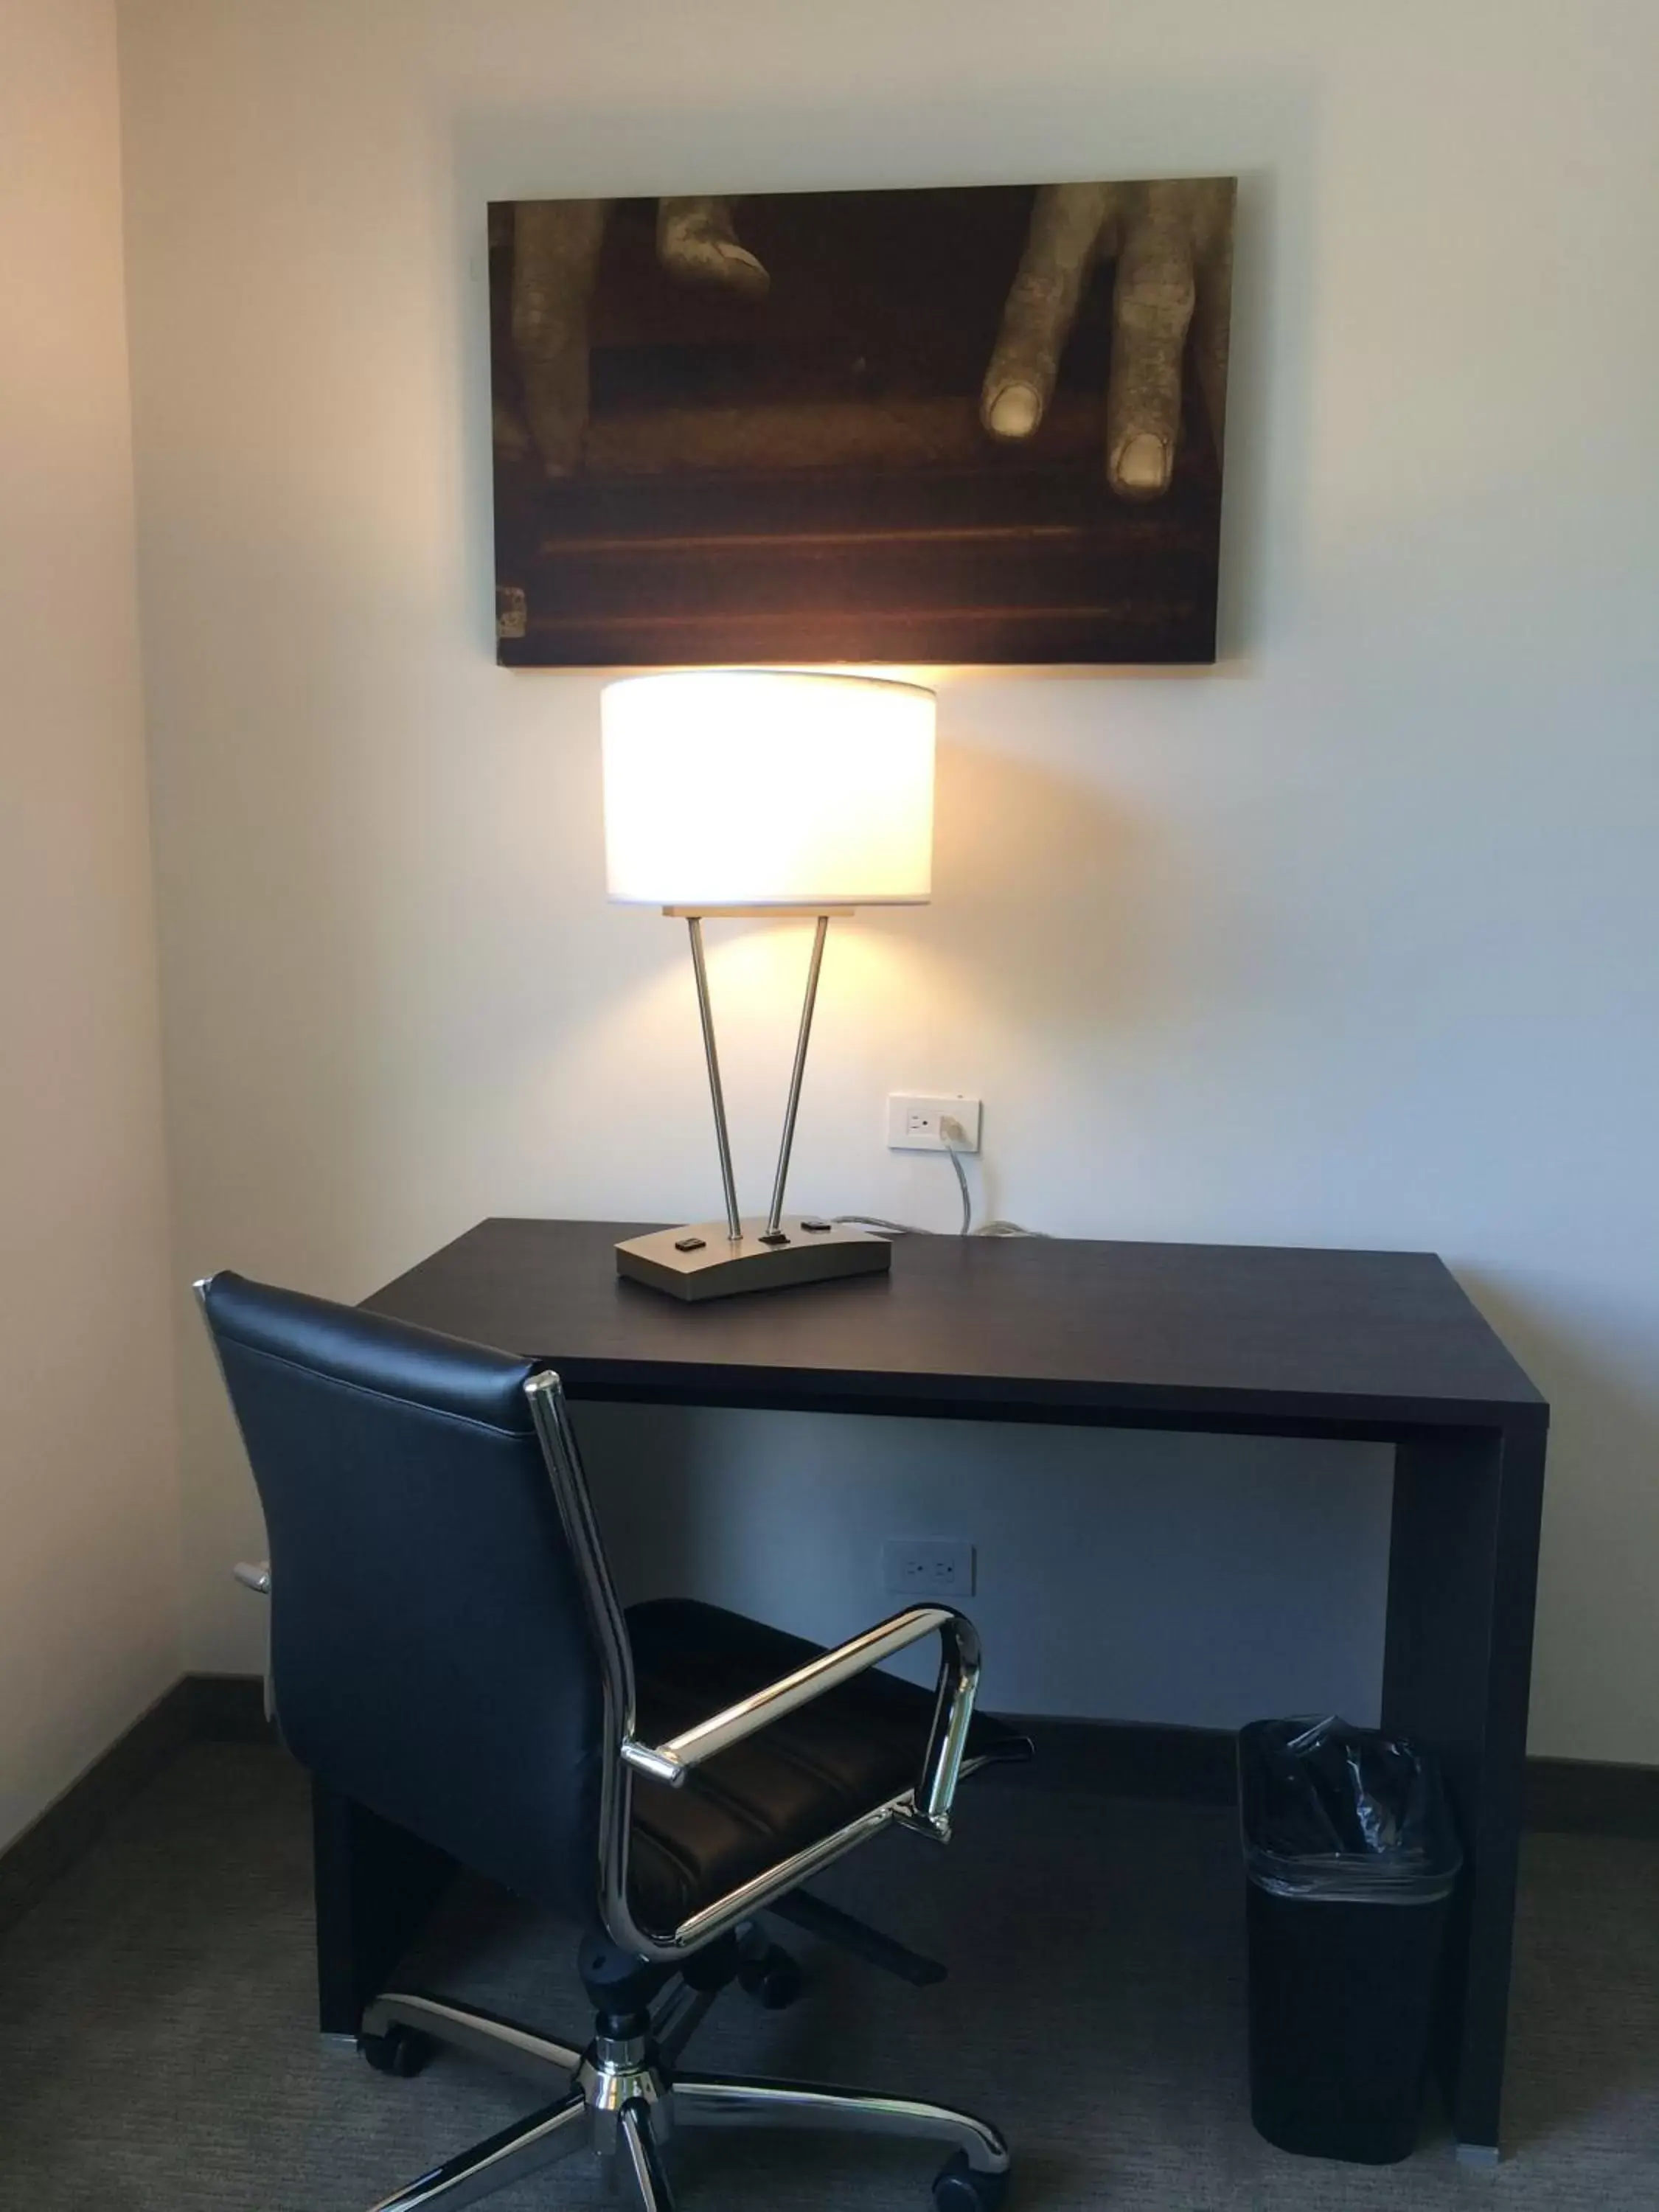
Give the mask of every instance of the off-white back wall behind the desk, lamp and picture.
MULTIPOLYGON (((1659 15, 135 0, 124 71, 181 1272, 356 1296, 484 1212, 712 1201, 597 679, 491 666, 484 201, 1237 170, 1225 666, 942 675, 940 894, 832 947, 799 1199, 949 1221, 880 1146, 949 1084, 1048 1230, 1438 1248, 1557 1402, 1533 1743, 1659 1759, 1659 15)), ((801 958, 714 960, 750 1181, 801 958)), ((252 1666, 186 1383, 190 1652, 252 1666)), ((1376 1699, 1367 1453, 588 1429, 814 1626, 878 1533, 975 1537, 1009 1703, 1376 1699)))

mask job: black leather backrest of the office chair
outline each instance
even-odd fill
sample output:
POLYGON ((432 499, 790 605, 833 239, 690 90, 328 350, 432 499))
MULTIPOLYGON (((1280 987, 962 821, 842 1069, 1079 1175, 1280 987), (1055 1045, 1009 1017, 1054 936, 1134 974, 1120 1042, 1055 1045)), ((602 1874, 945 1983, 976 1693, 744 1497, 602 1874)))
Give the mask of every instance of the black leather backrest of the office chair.
POLYGON ((538 1363, 237 1274, 201 1305, 265 1509, 290 1750, 591 1913, 602 1674, 524 1400, 538 1363))

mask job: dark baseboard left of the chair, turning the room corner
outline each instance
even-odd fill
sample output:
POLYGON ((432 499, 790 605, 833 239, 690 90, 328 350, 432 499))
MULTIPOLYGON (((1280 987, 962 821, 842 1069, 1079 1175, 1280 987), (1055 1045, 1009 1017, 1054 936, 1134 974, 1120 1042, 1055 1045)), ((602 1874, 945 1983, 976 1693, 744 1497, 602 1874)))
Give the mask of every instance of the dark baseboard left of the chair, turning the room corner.
POLYGON ((257 1674, 186 1674, 0 1851, 0 1929, 20 1920, 186 1743, 270 1736, 257 1674))

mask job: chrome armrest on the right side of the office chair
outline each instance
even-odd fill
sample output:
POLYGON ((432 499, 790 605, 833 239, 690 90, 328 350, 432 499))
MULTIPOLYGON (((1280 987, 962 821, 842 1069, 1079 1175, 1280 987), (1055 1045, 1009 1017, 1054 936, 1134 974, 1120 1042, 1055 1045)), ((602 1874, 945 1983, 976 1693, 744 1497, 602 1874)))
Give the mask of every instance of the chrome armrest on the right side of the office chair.
POLYGON ((973 1697, 980 1686, 980 1637, 973 1621, 956 1613, 953 1606, 911 1606, 909 1613, 896 1613, 891 1619, 878 1621, 876 1628, 865 1628, 863 1635, 823 1652, 821 1659, 796 1668, 794 1674, 785 1674, 765 1690, 757 1690, 723 1712, 710 1714, 708 1721, 699 1721, 679 1736, 670 1736, 668 1743, 650 1745, 626 1736, 622 1756, 630 1767, 650 1774, 653 1781, 679 1790, 686 1776, 706 1759, 728 1750, 732 1743, 741 1743, 761 1728, 770 1728, 785 1712, 810 1705, 843 1681, 852 1681, 854 1674, 869 1672, 883 1659, 891 1659, 894 1652, 902 1652, 931 1635, 940 1639, 940 1674, 933 1725, 916 1783, 916 1816, 938 1836, 949 1836, 951 1801, 962 1772, 962 1752, 967 1750, 969 1723, 973 1721, 973 1697))

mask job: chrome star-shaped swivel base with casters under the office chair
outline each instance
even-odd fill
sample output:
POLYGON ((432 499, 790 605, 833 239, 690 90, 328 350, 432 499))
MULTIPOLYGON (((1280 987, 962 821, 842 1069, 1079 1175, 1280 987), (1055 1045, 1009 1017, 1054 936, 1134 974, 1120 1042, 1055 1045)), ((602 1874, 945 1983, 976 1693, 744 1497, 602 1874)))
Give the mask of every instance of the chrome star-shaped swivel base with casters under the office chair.
MULTIPOLYGON (((781 1955, 772 1953, 774 1960, 781 1955)), ((754 1960, 743 1980, 759 1989, 765 1964, 765 1958, 754 1960)), ((933 2181, 936 2212, 993 2212, 1002 2203, 1009 2148, 993 2126, 971 2112, 872 2090, 679 2070, 675 2059, 717 1995, 719 1986, 677 1982, 653 2015, 641 2015, 639 2033, 606 2033, 617 2022, 602 2015, 599 2033, 584 2051, 440 1997, 403 1991, 376 1997, 363 2015, 363 2048, 372 2064, 387 2073, 418 2073, 429 2039, 538 2084, 546 2101, 396 2197, 385 2197, 374 2212, 418 2212, 425 2205, 449 2212, 577 2152, 619 2159, 644 2212, 672 2212, 661 2148, 679 2128, 818 2128, 949 2143, 953 2154, 933 2181)))

